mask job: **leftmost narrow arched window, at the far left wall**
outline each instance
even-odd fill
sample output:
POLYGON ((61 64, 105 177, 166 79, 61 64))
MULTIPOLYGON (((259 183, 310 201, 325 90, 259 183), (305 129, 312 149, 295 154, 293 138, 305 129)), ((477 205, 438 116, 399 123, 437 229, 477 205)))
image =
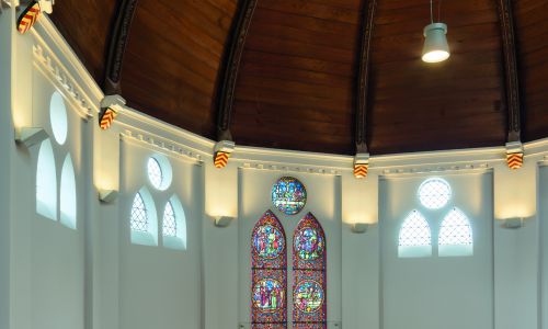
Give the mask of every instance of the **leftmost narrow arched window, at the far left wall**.
POLYGON ((36 164, 36 213, 57 220, 57 172, 52 141, 42 141, 36 164))

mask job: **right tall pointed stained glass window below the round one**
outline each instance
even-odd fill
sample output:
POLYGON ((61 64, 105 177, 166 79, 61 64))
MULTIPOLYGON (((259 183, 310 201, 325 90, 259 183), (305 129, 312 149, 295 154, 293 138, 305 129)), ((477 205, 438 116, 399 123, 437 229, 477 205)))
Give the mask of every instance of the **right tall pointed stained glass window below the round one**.
POLYGON ((293 243, 293 328, 327 328, 326 235, 308 213, 295 229, 293 243))

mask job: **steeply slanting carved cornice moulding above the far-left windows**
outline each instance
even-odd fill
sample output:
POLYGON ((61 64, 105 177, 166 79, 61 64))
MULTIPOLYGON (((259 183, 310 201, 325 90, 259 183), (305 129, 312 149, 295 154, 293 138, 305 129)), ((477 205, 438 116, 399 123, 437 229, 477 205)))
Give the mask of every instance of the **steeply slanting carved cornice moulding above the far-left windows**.
POLYGON ((81 88, 75 82, 71 75, 65 70, 65 67, 60 65, 55 55, 47 52, 39 44, 33 45, 33 55, 35 67, 46 78, 49 78, 52 83, 57 84, 59 89, 64 90, 67 97, 72 99, 75 105, 77 105, 77 113, 84 120, 92 117, 92 107, 89 99, 84 97, 81 88))

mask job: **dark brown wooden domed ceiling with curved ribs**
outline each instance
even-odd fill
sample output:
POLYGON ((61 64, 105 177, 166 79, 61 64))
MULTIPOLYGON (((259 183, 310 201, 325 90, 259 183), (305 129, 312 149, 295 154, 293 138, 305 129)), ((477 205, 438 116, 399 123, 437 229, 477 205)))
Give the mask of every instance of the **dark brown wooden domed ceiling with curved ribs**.
POLYGON ((547 137, 548 0, 434 5, 452 49, 436 65, 427 0, 65 0, 52 18, 105 89, 129 31, 116 91, 212 139, 379 155, 502 146, 510 124, 547 137))

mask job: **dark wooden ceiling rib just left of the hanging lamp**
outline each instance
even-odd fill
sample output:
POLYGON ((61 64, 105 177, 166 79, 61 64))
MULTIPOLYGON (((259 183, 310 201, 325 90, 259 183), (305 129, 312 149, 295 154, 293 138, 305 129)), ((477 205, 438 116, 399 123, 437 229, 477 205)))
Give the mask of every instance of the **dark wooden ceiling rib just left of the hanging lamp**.
POLYGON ((367 11, 364 13, 362 27, 362 47, 359 49, 359 70, 356 91, 356 152, 365 154, 367 150, 367 98, 369 92, 370 46, 375 30, 375 14, 377 0, 367 1, 367 11))

